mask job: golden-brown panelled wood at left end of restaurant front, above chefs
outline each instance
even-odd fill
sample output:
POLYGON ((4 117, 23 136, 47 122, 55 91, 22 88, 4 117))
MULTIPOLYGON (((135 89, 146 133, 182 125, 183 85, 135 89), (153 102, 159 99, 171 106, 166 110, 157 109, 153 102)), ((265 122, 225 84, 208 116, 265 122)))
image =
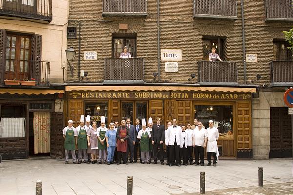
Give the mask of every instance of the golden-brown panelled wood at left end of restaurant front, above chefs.
POLYGON ((73 126, 77 127, 80 123, 80 117, 84 113, 83 100, 70 100, 69 101, 69 120, 73 121, 73 126))

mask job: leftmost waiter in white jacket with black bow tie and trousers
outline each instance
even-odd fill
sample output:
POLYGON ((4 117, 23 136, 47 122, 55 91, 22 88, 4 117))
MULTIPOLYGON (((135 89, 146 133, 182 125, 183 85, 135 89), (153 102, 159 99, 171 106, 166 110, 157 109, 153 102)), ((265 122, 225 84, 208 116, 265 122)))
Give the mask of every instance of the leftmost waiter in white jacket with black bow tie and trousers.
POLYGON ((169 131, 169 150, 170 150, 170 164, 180 167, 180 137, 181 127, 177 125, 177 119, 173 119, 173 125, 168 128, 169 131))

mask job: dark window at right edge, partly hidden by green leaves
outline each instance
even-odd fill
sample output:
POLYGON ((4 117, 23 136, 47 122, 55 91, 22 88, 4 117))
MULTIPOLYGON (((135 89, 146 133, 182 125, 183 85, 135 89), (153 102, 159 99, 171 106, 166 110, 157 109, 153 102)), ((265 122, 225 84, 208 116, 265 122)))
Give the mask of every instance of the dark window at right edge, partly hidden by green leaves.
POLYGON ((292 52, 287 48, 289 47, 286 41, 273 41, 273 57, 275 61, 291 61, 292 52))

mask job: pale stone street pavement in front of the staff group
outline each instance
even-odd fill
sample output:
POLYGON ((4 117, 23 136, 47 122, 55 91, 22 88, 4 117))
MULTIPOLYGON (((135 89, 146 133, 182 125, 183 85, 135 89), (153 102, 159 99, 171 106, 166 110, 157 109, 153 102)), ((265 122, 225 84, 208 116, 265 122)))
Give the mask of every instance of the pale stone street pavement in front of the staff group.
POLYGON ((292 159, 280 158, 221 160, 217 167, 140 163, 65 165, 55 159, 3 161, 0 195, 32 195, 36 180, 42 180, 42 195, 126 195, 127 176, 133 176, 134 195, 196 195, 200 171, 206 174, 206 194, 210 195, 293 194, 292 159), (258 167, 263 167, 265 187, 251 188, 258 186, 258 167), (255 191, 251 192, 252 189, 255 191))

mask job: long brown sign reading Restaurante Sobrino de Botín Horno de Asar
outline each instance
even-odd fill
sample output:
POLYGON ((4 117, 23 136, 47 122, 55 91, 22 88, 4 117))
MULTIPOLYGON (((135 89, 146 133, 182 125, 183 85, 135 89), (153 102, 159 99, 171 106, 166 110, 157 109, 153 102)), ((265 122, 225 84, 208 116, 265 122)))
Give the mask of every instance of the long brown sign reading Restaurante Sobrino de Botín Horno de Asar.
POLYGON ((108 91, 108 92, 69 92, 69 98, 82 99, 193 99, 193 100, 251 100, 250 93, 213 92, 167 92, 167 91, 108 91))

